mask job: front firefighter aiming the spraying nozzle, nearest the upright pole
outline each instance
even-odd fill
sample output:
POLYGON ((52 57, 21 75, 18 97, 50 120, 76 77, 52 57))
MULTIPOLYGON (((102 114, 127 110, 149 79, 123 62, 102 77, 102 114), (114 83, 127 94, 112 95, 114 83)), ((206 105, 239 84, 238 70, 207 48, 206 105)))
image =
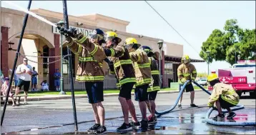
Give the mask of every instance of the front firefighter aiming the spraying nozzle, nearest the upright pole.
POLYGON ((66 36, 63 46, 69 47, 75 55, 79 56, 76 81, 85 82, 89 104, 92 104, 96 123, 88 131, 102 134, 107 131, 104 126, 105 111, 102 105, 104 101, 102 62, 107 56, 100 46, 104 42, 104 33, 100 29, 95 29, 88 39, 82 33, 77 34, 75 29, 61 28, 60 31, 66 36))

